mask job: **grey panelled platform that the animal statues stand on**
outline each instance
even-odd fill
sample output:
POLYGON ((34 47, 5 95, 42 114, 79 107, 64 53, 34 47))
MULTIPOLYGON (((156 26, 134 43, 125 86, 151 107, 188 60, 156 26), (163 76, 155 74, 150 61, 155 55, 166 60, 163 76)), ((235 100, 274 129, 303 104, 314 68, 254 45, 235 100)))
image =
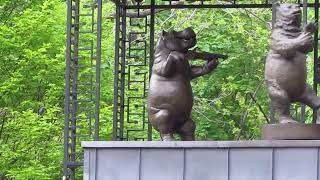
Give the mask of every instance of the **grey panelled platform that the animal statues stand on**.
POLYGON ((84 180, 320 180, 319 140, 82 142, 84 180))

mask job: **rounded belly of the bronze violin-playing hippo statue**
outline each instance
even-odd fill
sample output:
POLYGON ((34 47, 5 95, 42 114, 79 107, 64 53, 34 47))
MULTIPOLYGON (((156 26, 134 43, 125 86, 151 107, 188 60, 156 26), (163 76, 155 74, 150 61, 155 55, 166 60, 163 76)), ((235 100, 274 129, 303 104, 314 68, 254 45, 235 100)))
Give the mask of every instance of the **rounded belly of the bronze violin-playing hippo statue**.
POLYGON ((190 80, 181 75, 164 78, 153 74, 150 79, 148 105, 154 108, 173 108, 175 114, 189 114, 193 95, 190 80))

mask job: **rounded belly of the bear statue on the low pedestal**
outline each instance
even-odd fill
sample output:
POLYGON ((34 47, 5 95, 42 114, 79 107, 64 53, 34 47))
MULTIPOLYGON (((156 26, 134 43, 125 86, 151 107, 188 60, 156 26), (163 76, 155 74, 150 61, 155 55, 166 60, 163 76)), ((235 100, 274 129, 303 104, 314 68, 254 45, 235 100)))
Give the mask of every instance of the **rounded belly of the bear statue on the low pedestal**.
POLYGON ((285 59, 269 53, 265 67, 267 81, 276 82, 290 97, 300 96, 306 86, 306 55, 297 52, 295 57, 285 59))

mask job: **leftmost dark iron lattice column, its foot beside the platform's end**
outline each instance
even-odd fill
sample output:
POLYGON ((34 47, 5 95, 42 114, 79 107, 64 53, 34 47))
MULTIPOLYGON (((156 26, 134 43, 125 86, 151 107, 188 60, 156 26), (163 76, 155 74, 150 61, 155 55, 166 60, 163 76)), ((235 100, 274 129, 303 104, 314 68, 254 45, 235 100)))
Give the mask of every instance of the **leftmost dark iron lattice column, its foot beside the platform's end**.
POLYGON ((65 179, 75 179, 76 168, 83 164, 80 142, 99 139, 101 5, 101 0, 68 0, 65 179))

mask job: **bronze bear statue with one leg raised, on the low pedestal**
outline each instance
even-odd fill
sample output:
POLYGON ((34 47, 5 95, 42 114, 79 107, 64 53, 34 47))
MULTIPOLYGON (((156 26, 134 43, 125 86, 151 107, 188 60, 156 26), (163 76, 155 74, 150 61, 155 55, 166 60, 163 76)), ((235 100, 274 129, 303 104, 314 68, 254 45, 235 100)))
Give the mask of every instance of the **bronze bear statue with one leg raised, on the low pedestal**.
POLYGON ((266 59, 265 80, 281 124, 296 123, 289 111, 292 102, 301 102, 313 109, 320 107, 320 98, 306 83, 307 53, 313 49, 315 30, 313 23, 301 28, 298 4, 278 5, 271 49, 266 59))

